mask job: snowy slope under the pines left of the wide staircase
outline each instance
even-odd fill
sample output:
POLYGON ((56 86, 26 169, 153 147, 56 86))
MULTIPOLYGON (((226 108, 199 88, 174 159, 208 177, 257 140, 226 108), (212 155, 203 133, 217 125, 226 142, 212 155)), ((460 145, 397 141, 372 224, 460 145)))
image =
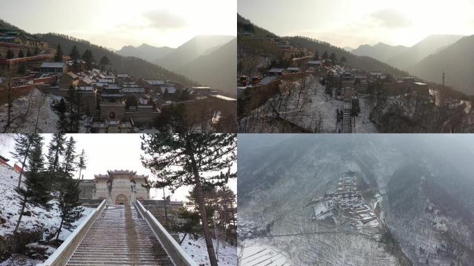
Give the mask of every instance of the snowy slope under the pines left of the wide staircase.
MULTIPOLYGON (((21 205, 20 199, 17 198, 18 194, 15 192, 18 177, 18 172, 0 164, 0 217, 6 220, 5 223, 0 225, 0 236, 13 233, 19 217, 21 205)), ((51 204, 53 204, 51 210, 28 205, 25 212, 29 214, 23 215, 21 218, 19 231, 43 231, 43 240, 53 236, 60 225, 60 212, 57 201, 52 200, 51 204)), ((94 211, 94 208, 85 207, 80 220, 74 222, 74 225, 80 224, 91 211, 94 211)), ((72 231, 73 229, 68 230, 63 227, 60 233, 60 240, 65 240, 72 231)), ((30 245, 35 245, 35 243, 30 245)), ((47 248, 47 254, 52 254, 55 251, 54 247, 48 246, 47 248)), ((31 263, 34 265, 38 261, 15 254, 15 256, 12 256, 6 262, 0 263, 0 265, 32 265, 31 263)))

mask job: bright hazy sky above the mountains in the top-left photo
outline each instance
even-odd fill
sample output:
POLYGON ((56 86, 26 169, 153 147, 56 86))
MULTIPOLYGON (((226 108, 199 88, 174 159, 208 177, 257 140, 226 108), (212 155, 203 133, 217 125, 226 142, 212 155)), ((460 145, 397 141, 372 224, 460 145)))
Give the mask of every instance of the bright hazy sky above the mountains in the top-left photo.
POLYGON ((0 18, 108 48, 175 48, 196 35, 236 35, 236 9, 236 0, 1 0, 0 18))

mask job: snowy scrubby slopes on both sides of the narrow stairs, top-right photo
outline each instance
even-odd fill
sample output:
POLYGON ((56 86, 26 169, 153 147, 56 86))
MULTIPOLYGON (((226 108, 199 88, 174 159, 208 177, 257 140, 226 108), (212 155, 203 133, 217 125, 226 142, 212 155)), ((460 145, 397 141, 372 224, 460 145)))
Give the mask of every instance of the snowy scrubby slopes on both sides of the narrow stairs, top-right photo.
MULTIPOLYGON (((325 87, 318 82, 318 78, 309 75, 305 85, 301 86, 299 81, 282 82, 283 87, 290 88, 288 94, 277 95, 240 121, 240 132, 292 132, 295 128, 285 127, 280 121, 275 121, 277 114, 274 109, 279 110, 281 118, 304 128, 309 132, 336 133, 338 132, 336 111, 344 109, 344 101, 336 100, 334 96, 326 94, 325 87), (303 89, 301 89, 301 87, 303 89), (300 94, 301 89, 301 94, 300 94), (281 103, 288 103, 283 107, 281 103), (245 127, 245 128, 243 128, 245 127)), ((356 116, 356 124, 353 132, 377 132, 376 125, 369 121, 371 106, 369 100, 360 98, 359 116, 356 116)), ((339 123, 340 124, 340 123, 339 123)))

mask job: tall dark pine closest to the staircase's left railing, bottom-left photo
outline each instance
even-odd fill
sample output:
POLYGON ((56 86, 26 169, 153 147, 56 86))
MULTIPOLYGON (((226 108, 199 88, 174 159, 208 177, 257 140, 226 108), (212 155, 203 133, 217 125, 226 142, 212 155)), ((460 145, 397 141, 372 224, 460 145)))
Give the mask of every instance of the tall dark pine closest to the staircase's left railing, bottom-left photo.
POLYGON ((71 136, 65 143, 63 161, 59 172, 59 207, 61 211, 61 222, 56 235, 58 240, 63 226, 71 227, 71 224, 80 218, 82 208, 79 202, 79 180, 73 179, 76 170, 76 141, 71 136))

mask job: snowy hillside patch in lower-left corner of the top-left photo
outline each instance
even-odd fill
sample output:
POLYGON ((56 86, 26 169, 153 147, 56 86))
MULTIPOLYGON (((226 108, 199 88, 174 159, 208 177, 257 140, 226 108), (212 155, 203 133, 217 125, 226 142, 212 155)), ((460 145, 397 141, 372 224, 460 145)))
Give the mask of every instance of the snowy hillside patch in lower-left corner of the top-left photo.
MULTIPOLYGON (((53 111, 51 104, 53 103, 53 100, 59 100, 60 98, 60 96, 54 96, 53 94, 43 94, 38 89, 33 89, 26 96, 17 98, 12 103, 12 118, 16 119, 12 121, 12 124, 8 127, 6 132, 33 133, 35 130, 36 118, 38 117, 38 108, 40 108, 40 116, 37 132, 56 132, 58 114, 53 111)), ((7 120, 8 105, 0 106, 0 132, 3 132, 7 120)))

